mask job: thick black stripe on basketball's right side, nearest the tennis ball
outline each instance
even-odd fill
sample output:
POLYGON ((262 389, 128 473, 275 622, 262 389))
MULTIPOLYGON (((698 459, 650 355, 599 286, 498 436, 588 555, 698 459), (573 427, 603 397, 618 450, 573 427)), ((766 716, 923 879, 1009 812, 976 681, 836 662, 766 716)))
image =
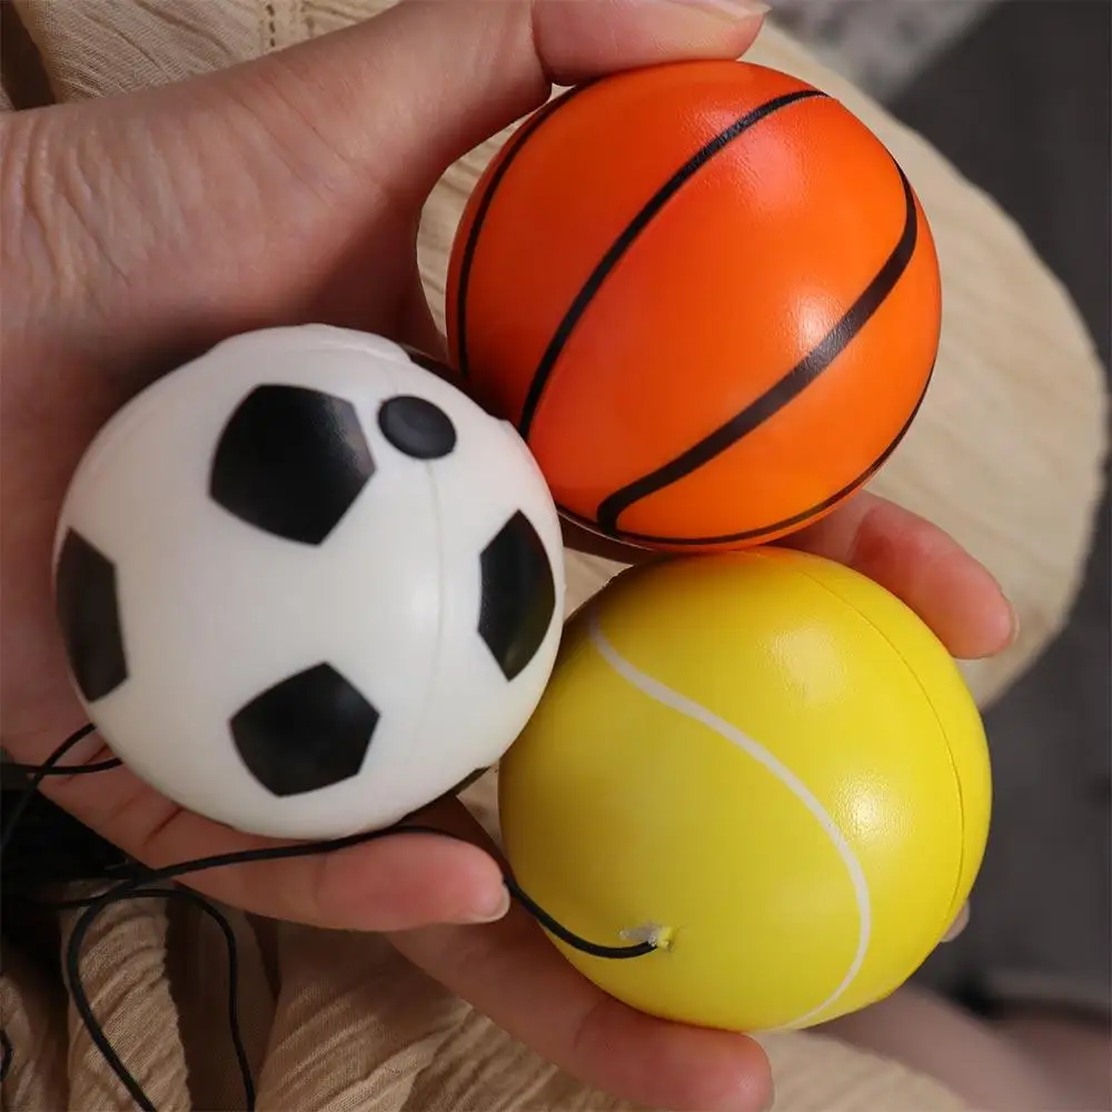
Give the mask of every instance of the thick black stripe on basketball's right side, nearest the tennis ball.
POLYGON ((780 413, 784 406, 797 398, 818 378, 868 324, 907 269, 919 239, 915 195, 898 166, 896 166, 896 171, 900 175, 904 195, 903 231, 896 246, 892 249, 892 254, 857 300, 800 363, 770 389, 765 390, 761 397, 749 403, 739 414, 676 456, 675 459, 658 467, 655 471, 635 479, 605 498, 598 507, 598 525, 605 533, 616 535, 618 518, 634 503, 641 502, 642 498, 647 498, 651 494, 663 490, 666 486, 691 475, 692 471, 733 447, 743 436, 752 433, 758 425, 780 413))

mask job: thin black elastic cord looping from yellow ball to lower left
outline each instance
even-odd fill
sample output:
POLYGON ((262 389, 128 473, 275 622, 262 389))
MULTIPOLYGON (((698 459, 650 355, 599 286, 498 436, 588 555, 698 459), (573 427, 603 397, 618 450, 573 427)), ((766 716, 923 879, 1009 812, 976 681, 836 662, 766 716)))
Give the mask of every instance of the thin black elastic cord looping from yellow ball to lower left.
MULTIPOLYGON (((8 843, 11 840, 17 824, 26 812, 31 800, 34 797, 39 785, 48 776, 87 775, 89 773, 105 772, 109 768, 119 767, 122 762, 118 758, 98 761, 95 764, 69 767, 59 764, 61 758, 80 741, 88 737, 92 731, 93 726, 91 724, 82 726, 81 729, 68 737, 41 765, 13 766, 16 771, 28 774, 30 780, 12 807, 11 813, 4 820, 3 831, 2 834, 0 834, 0 853, 7 850, 8 843)), ((451 837, 457 838, 458 841, 466 841, 465 838, 460 838, 459 835, 450 834, 447 831, 436 830, 430 826, 398 825, 387 827, 386 830, 368 831, 363 834, 353 834, 347 837, 331 838, 324 842, 264 846, 257 850, 244 850, 237 853, 212 854, 208 857, 198 857, 195 861, 178 862, 162 868, 148 868, 138 862, 125 860, 106 864, 98 876, 87 877, 90 880, 97 878, 115 881, 116 883, 113 883, 107 891, 80 900, 70 900, 51 904, 54 909, 82 909, 80 916, 73 925, 73 930, 66 947, 66 980, 69 985, 70 994, 73 997, 75 1007, 81 1017, 81 1022, 85 1025, 90 1040, 100 1051, 109 1068, 142 1112, 157 1112, 157 1110, 150 1098, 143 1091, 142 1086, 112 1048, 111 1042, 105 1034, 103 1027, 100 1025, 92 1012, 88 994, 86 993, 85 985, 81 981, 81 945, 88 936, 97 916, 113 903, 118 903, 123 900, 143 900, 162 896, 167 898, 186 900, 216 922, 224 934, 228 951, 228 1021, 231 1027, 232 1045, 235 1048, 236 1060, 242 1075, 244 1092, 247 1098, 247 1109, 248 1112, 252 1112, 256 1100, 255 1084, 251 1079, 250 1063, 247 1058, 247 1051, 244 1045, 242 1033, 239 1024, 239 962, 236 936, 231 929, 231 924, 217 906, 190 888, 182 887, 177 883, 167 887, 156 887, 152 885, 158 885, 159 883, 165 883, 167 881, 177 882, 178 878, 182 876, 205 872, 211 868, 224 868, 229 865, 240 865, 262 861, 288 861, 294 857, 307 857, 322 853, 335 853, 339 850, 349 848, 350 846, 361 845, 365 842, 374 842, 379 838, 397 834, 431 834, 437 837, 451 837)), ((626 946, 607 946, 590 942, 587 939, 583 939, 569 931, 562 923, 555 920, 535 900, 523 891, 512 876, 505 876, 505 884, 510 895, 538 923, 540 923, 542 926, 544 926, 550 934, 558 937, 562 942, 582 951, 583 953, 590 954, 595 957, 624 960, 629 957, 644 957, 648 954, 655 953, 659 949, 663 949, 663 943, 659 940, 646 941, 626 946)), ((7 1078, 11 1069, 11 1040, 8 1037, 8 1033, 0 1027, 0 1081, 7 1078)))

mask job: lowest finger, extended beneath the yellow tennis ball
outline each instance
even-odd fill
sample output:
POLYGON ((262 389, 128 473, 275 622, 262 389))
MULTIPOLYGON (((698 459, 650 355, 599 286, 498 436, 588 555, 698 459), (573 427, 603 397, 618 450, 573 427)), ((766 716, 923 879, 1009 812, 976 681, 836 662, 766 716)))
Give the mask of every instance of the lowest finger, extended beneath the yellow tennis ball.
MULTIPOLYGON (((457 833, 481 837, 467 816, 456 818, 466 824, 457 833)), ((768 1062, 754 1041, 627 1007, 576 972, 520 907, 490 926, 391 941, 513 1037, 619 1099, 673 1112, 755 1112, 767 1101, 768 1062)))

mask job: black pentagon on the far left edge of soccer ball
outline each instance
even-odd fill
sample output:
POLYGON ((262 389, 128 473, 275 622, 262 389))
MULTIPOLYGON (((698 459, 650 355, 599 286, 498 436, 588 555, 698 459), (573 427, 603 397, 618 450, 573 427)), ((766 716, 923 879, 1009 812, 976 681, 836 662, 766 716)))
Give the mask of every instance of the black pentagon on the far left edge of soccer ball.
POLYGON ((95 703, 128 678, 116 565, 79 533, 62 542, 54 605, 70 672, 81 697, 95 703))

